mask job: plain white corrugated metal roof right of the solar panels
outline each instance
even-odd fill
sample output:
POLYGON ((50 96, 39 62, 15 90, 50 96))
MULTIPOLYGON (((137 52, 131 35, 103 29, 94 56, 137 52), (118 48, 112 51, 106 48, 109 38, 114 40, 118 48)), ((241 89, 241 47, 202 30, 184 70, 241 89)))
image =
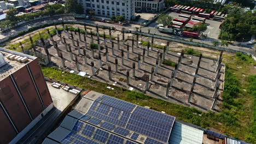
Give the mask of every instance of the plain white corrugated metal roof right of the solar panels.
POLYGON ((170 143, 202 144, 203 131, 175 122, 172 128, 170 143))

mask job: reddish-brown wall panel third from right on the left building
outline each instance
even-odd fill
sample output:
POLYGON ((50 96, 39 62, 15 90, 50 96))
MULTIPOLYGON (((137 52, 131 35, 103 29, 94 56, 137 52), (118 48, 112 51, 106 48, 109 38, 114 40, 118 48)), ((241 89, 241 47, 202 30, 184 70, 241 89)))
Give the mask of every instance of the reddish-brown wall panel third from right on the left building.
MULTIPOLYGON (((10 77, 5 78, 0 82, 0 99, 8 111, 11 119, 13 119, 19 131, 23 130, 31 122, 30 117, 25 109, 24 104, 15 90, 10 77)), ((2 119, 2 117, 0 117, 2 119)), ((0 120, 1 121, 1 120, 0 120)), ((3 125, 0 123, 0 125, 3 125)), ((3 132, 3 131, 2 131, 3 132)), ((2 137, 2 135, 0 135, 2 137)))

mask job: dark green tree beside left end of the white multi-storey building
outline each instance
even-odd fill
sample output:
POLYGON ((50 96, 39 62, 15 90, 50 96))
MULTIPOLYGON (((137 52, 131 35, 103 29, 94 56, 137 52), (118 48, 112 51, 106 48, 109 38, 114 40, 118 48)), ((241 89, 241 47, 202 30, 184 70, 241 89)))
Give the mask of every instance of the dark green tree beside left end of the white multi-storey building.
POLYGON ((67 0, 65 3, 65 13, 83 14, 83 4, 79 4, 77 0, 67 0))

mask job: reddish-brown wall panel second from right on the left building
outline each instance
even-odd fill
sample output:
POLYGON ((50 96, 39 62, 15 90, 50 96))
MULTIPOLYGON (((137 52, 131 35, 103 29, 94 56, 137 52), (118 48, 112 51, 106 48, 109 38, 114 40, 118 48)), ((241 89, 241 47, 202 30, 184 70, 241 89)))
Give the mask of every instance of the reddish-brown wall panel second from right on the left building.
POLYGON ((27 67, 22 67, 18 71, 15 71, 13 77, 20 89, 25 103, 27 104, 28 110, 30 110, 32 117, 36 118, 43 111, 43 106, 40 103, 40 99, 30 74, 28 73, 27 67))

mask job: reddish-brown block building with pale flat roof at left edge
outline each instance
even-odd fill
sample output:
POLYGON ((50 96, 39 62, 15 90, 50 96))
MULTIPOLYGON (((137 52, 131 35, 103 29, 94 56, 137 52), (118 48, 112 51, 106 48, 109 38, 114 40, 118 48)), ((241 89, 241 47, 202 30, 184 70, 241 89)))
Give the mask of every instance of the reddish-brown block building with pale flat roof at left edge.
POLYGON ((38 58, 0 48, 0 143, 16 143, 53 101, 38 58))

